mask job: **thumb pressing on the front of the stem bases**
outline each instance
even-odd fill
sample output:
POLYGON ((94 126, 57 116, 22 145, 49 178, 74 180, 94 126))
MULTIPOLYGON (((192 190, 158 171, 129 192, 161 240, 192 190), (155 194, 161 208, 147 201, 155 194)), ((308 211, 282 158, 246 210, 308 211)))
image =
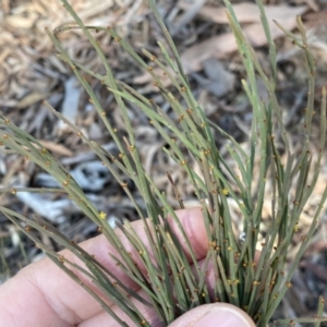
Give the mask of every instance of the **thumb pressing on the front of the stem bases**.
POLYGON ((241 308, 214 303, 190 310, 168 327, 255 327, 255 324, 241 308))

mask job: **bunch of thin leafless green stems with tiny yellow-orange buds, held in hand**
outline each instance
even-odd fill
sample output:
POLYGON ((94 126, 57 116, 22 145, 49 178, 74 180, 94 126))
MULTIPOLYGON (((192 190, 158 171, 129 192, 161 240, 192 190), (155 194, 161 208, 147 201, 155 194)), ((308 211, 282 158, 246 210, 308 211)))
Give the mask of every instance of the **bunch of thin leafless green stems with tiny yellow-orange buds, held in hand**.
MULTIPOLYGON (((32 238, 37 246, 44 250, 53 263, 60 266, 71 278, 82 284, 72 269, 78 269, 86 277, 89 277, 108 299, 120 306, 135 322, 135 326, 148 326, 148 323, 126 294, 136 296, 138 301, 153 306, 165 324, 171 323, 192 307, 221 301, 229 302, 244 310, 257 326, 267 326, 284 293, 291 287, 292 275, 316 230, 318 217, 327 197, 327 189, 325 189, 316 214, 312 217, 312 225, 306 235, 302 239, 296 256, 287 268, 288 249, 296 232, 301 213, 318 179, 326 135, 326 90, 324 88, 320 108, 320 141, 319 145, 317 145, 318 154, 315 157, 310 149, 312 118, 315 113, 315 63, 307 48, 301 19, 298 19, 300 36, 284 31, 292 41, 303 50, 308 83, 307 105, 304 110, 303 122, 303 148, 301 153, 292 153, 292 146, 289 144, 288 133, 282 121, 282 110, 276 97, 276 47, 269 33, 263 4, 259 0, 257 1, 269 45, 269 73, 266 73, 261 66, 254 50, 242 34, 232 5, 229 1, 225 1, 229 23, 246 71, 246 78, 242 81, 242 85, 253 110, 250 152, 246 153, 232 136, 205 117, 203 109, 192 94, 177 48, 153 0, 148 0, 148 4, 169 45, 169 48, 166 48, 162 43, 158 43, 164 58, 162 62, 147 50, 143 50, 143 57, 138 56, 113 28, 85 26, 69 2, 66 0, 61 1, 76 22, 76 26, 61 26, 53 33, 47 31, 47 34, 59 51, 58 57, 72 68, 74 74, 88 93, 90 102, 119 148, 119 157, 114 157, 101 148, 100 145, 88 140, 77 126, 49 105, 48 107, 53 114, 63 120, 89 145, 134 204, 144 223, 150 253, 133 232, 129 221, 124 221, 119 228, 126 235, 135 251, 138 252, 138 259, 144 265, 146 272, 142 272, 135 266, 130 253, 123 247, 121 240, 117 237, 116 231, 108 225, 106 215, 97 210, 69 172, 37 140, 15 126, 2 114, 0 117, 0 141, 7 148, 34 161, 60 182, 62 185, 60 192, 66 193, 81 210, 99 227, 108 242, 120 255, 120 257, 114 257, 117 264, 145 291, 148 299, 143 299, 133 290, 126 288, 120 281, 119 276, 113 276, 96 257, 71 242, 49 222, 24 217, 4 207, 0 207, 1 211, 27 237, 32 238), (89 71, 78 62, 70 59, 56 35, 59 32, 72 28, 81 28, 88 38, 102 62, 105 68, 104 75, 89 71), (152 74, 158 92, 161 93, 174 111, 175 120, 169 118, 155 101, 114 78, 110 68, 110 59, 105 57, 100 45, 93 35, 93 32, 98 31, 109 33, 112 39, 119 43, 142 69, 152 74), (158 68, 160 69, 160 74, 157 73, 158 68), (108 119, 106 111, 85 78, 87 74, 98 78, 113 94, 126 129, 123 140, 118 136, 116 128, 108 119), (256 84, 257 75, 264 81, 267 89, 268 99, 266 101, 259 98, 256 84), (162 76, 170 78, 182 100, 178 100, 177 96, 164 86, 162 76), (208 239, 208 249, 203 266, 198 265, 194 250, 174 213, 177 208, 173 208, 168 203, 165 193, 158 190, 142 166, 132 123, 128 114, 130 102, 137 106, 148 117, 150 124, 156 128, 165 140, 167 146, 162 150, 183 167, 202 204, 203 219, 208 239), (234 160, 238 172, 227 164, 226 158, 219 153, 214 141, 215 133, 219 133, 226 140, 229 155, 234 160), (279 142, 279 147, 276 145, 277 141, 279 142), (280 144, 282 144, 282 150, 286 153, 286 160, 281 160, 280 144), (202 175, 198 175, 192 169, 187 158, 193 158, 199 165, 202 175), (254 171, 255 159, 259 161, 258 171, 254 171), (144 199, 146 215, 133 197, 128 183, 121 178, 122 174, 131 179, 136 185, 144 199), (259 180, 257 190, 254 190, 253 186, 255 174, 258 174, 259 180), (269 232, 267 232, 262 243, 259 258, 256 258, 256 246, 268 180, 272 183, 269 232), (296 192, 294 197, 292 197, 290 190, 294 184, 296 185, 296 192), (241 219, 244 230, 240 238, 235 237, 233 231, 228 197, 234 201, 242 213, 241 219), (168 216, 179 227, 182 238, 178 239, 173 233, 167 220, 168 216), (31 232, 31 229, 48 234, 56 242, 70 250, 86 264, 87 269, 68 262, 64 257, 49 250, 31 232), (184 247, 187 249, 191 259, 187 258, 184 247), (209 294, 205 283, 208 266, 213 266, 217 277, 214 295, 209 294), (121 292, 121 290, 125 292, 121 292)), ((11 192, 20 191, 22 190, 13 189, 11 192)), ((43 189, 31 191, 56 192, 58 190, 43 189)), ((179 199, 180 207, 183 208, 183 202, 178 191, 175 191, 175 196, 179 199)), ((82 287, 95 296, 104 310, 112 315, 121 326, 126 326, 92 289, 85 284, 82 284, 82 287)), ((319 326, 319 323, 323 320, 320 317, 323 303, 322 300, 316 318, 298 319, 298 322, 315 323, 315 326, 319 326)), ((290 323, 289 319, 276 322, 276 324, 290 323)))

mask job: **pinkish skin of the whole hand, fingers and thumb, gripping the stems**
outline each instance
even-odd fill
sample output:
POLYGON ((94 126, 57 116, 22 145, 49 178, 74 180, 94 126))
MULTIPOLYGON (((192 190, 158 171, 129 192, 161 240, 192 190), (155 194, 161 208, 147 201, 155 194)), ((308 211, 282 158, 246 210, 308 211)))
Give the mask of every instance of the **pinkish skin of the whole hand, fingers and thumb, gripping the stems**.
MULTIPOLYGON (((207 238, 201 208, 179 210, 177 214, 190 239, 192 247, 194 249, 195 256, 201 263, 207 251, 207 238)), ((179 229, 175 223, 173 223, 172 219, 170 219, 170 226, 175 234, 180 235, 179 229)), ((144 244, 148 245, 142 221, 134 221, 133 228, 143 240, 144 244)), ((137 254, 124 234, 120 230, 117 230, 117 233, 122 240, 124 246, 132 252, 133 257, 137 257, 137 254)), ((116 276, 121 276, 121 281, 124 284, 145 296, 143 291, 138 289, 138 287, 108 255, 108 253, 113 255, 118 254, 104 235, 89 239, 80 245, 88 253, 95 254, 96 258, 108 267, 116 276)), ((186 249, 185 252, 187 252, 186 249)), ((69 251, 62 251, 61 254, 65 258, 82 265, 81 262, 78 262, 78 259, 69 251)), ((78 274, 78 271, 75 271, 75 274, 78 275, 78 277, 83 279, 87 286, 96 291, 96 288, 90 280, 87 280, 83 275, 78 274)), ((214 284, 214 274, 210 271, 207 277, 209 291, 211 290, 210 286, 214 284)), ((119 307, 113 305, 113 303, 108 302, 108 300, 106 302, 122 320, 125 320, 129 326, 133 326, 130 318, 125 316, 119 307)), ((153 308, 140 304, 138 301, 134 302, 144 314, 145 318, 149 322, 150 326, 165 326, 159 320, 153 308)), ((219 308, 223 305, 226 306, 223 303, 218 305, 219 308)), ((227 317, 231 315, 229 312, 231 305, 228 306, 228 312, 225 311, 227 317)), ((216 310, 216 306, 214 308, 216 310)), ((190 311, 173 322, 170 326, 196 326, 198 318, 202 317, 208 310, 211 310, 211 307, 206 307, 205 305, 194 308, 193 315, 193 311, 190 311)), ((232 307, 232 311, 237 311, 238 314, 244 318, 245 323, 242 326, 254 326, 252 320, 243 312, 235 307, 232 307)), ((68 277, 49 258, 28 265, 0 287, 0 322, 1 326, 7 327, 119 326, 116 320, 101 310, 96 300, 94 300, 75 281, 68 277)), ((206 324, 206 327, 209 327, 209 324, 206 324)))

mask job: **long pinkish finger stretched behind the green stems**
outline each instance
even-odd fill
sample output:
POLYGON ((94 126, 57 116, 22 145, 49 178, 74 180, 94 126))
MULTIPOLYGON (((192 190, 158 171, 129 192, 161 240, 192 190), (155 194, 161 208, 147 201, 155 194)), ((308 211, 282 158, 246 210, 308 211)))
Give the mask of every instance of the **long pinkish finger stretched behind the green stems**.
MULTIPOLYGON (((207 237, 201 208, 179 210, 177 215, 196 258, 204 257, 207 251, 207 237)), ((172 219, 169 219, 169 221, 173 232, 179 237, 178 226, 172 219)), ((143 222, 137 220, 132 225, 145 246, 148 246, 143 222)), ((117 233, 125 249, 132 254, 135 253, 124 234, 120 230, 117 233)), ((119 256, 104 235, 85 241, 81 246, 86 252, 94 254, 97 261, 110 269, 114 276, 120 276, 120 280, 126 287, 137 289, 136 284, 108 255, 110 253, 119 256)), ((63 251, 61 254, 69 261, 78 262, 69 251, 63 251)), ((81 276, 80 272, 77 274, 81 276)), ((86 280, 83 276, 81 278, 85 280, 86 284, 94 288, 89 280, 86 280)), ((80 324, 101 311, 98 302, 59 267, 55 266, 50 259, 44 259, 24 268, 12 280, 4 283, 0 290, 0 320, 21 322, 21 325, 16 326, 46 326, 49 323, 59 326, 71 326, 80 324), (32 303, 33 306, 31 306, 32 303)), ((10 324, 7 326, 10 326, 10 324)))

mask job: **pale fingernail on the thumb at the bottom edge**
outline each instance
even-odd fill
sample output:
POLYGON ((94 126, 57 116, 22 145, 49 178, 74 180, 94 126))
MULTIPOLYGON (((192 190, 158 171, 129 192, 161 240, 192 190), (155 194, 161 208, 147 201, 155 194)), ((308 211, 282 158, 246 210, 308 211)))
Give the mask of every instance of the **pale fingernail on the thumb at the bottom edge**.
POLYGON ((244 315, 233 307, 211 307, 197 319, 193 327, 250 327, 244 315))

